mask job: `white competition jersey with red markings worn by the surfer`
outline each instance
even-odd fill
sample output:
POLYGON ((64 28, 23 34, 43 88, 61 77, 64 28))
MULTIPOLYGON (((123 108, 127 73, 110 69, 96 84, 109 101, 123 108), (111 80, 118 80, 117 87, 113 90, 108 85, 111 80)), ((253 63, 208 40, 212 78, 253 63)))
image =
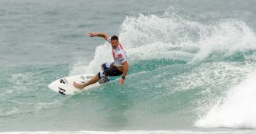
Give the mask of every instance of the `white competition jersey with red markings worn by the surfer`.
MULTIPOLYGON (((107 41, 111 43, 111 38, 109 37, 107 41)), ((112 54, 117 66, 123 66, 123 63, 127 61, 126 52, 123 50, 123 46, 120 43, 116 49, 112 48, 112 54)))

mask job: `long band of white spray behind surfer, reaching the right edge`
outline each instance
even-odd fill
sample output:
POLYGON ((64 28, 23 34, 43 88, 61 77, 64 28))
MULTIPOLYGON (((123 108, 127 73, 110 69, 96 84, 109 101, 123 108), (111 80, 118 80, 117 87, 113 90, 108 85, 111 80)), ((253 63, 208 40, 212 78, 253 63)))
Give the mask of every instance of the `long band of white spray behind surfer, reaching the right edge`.
MULTIPOLYGON (((175 15, 127 16, 120 26, 119 40, 128 60, 171 59, 198 63, 209 57, 220 60, 256 49, 254 32, 244 22, 227 19, 206 25, 177 18, 175 15)), ((96 48, 91 62, 83 66, 76 64, 71 74, 95 74, 100 64, 107 61, 112 61, 108 43, 96 48)))

